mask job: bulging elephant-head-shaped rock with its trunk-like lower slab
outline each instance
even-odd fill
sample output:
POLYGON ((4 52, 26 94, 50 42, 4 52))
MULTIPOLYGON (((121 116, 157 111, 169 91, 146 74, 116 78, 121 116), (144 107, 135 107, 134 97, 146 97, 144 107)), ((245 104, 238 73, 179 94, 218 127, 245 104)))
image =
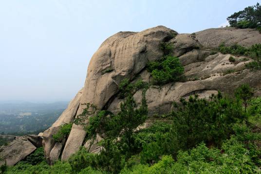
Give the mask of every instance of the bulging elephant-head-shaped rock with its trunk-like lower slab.
MULTIPOLYGON (((133 79, 148 61, 162 56, 159 44, 176 34, 171 29, 158 26, 139 33, 119 32, 105 40, 90 61, 77 115, 83 111, 86 103, 102 109, 118 92, 119 83, 124 78, 133 79), (108 69, 112 71, 103 73, 108 69)), ((68 159, 79 149, 85 136, 85 130, 74 124, 62 160, 68 159)))

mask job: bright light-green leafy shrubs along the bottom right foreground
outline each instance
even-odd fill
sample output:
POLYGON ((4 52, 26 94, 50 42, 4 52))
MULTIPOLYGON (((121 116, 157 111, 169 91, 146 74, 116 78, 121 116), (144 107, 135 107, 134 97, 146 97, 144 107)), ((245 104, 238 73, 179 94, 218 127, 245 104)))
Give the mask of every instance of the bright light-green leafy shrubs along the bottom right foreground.
POLYGON ((135 165, 121 174, 242 174, 260 173, 248 150, 235 139, 227 140, 222 149, 208 149, 204 143, 188 151, 179 151, 177 160, 163 156, 152 166, 135 165))

